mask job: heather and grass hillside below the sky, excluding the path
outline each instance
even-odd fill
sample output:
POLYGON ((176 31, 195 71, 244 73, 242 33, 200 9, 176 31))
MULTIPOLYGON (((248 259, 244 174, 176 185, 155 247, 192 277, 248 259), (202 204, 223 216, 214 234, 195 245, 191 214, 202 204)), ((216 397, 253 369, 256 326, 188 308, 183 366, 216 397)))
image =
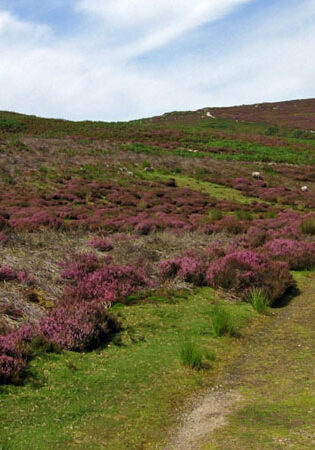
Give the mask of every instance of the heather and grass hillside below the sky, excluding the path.
MULTIPOLYGON (((0 112, 0 449, 163 448, 257 330, 282 336, 292 299, 310 341, 314 130, 314 99, 115 123, 0 112)), ((290 423, 311 448, 305 408, 290 423)))

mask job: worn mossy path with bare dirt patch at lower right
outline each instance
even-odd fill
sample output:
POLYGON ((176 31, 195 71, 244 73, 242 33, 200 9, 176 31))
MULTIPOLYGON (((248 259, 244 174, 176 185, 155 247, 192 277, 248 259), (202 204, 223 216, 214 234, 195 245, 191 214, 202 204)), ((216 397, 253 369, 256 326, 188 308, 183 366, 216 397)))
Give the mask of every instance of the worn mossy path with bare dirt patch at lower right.
POLYGON ((258 325, 220 385, 188 405, 166 449, 311 449, 315 275, 258 325))

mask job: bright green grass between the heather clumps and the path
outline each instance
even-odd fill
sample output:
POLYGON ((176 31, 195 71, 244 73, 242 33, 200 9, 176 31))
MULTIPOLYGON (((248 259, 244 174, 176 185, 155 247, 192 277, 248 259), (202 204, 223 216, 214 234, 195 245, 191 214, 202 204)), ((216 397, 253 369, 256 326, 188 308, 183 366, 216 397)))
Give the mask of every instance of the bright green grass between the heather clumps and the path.
MULTIPOLYGON (((198 342, 215 359, 233 351, 231 338, 214 337, 213 291, 155 294, 147 302, 113 308, 125 331, 105 349, 34 359, 34 378, 0 391, 0 448, 153 448, 174 423, 182 400, 206 387, 214 369, 181 364, 182 342, 198 342)), ((228 305, 239 326, 248 304, 228 305)), ((210 356, 209 356, 210 355, 210 356)), ((213 365, 212 364, 212 365, 213 365)))

